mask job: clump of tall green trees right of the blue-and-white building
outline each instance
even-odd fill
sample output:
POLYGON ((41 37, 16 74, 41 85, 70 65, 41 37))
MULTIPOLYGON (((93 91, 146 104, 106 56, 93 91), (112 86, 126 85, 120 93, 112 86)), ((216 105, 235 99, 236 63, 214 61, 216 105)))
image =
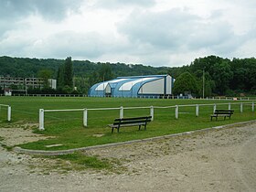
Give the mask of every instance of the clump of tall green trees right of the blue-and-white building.
POLYGON ((169 69, 169 74, 176 77, 175 94, 189 91, 200 97, 256 95, 255 58, 230 60, 208 56, 169 69))

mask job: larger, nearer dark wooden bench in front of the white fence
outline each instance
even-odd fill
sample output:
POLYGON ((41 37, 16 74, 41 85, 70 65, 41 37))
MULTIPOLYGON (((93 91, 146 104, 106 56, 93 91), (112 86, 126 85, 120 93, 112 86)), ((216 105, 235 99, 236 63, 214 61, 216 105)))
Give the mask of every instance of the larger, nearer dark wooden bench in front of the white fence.
POLYGON ((139 126, 139 130, 141 130, 141 126, 144 126, 144 130, 146 130, 146 124, 151 122, 152 116, 145 117, 132 117, 132 118, 118 118, 113 121, 112 124, 108 124, 109 127, 113 129, 117 129, 119 133, 120 127, 129 127, 129 126, 139 126))

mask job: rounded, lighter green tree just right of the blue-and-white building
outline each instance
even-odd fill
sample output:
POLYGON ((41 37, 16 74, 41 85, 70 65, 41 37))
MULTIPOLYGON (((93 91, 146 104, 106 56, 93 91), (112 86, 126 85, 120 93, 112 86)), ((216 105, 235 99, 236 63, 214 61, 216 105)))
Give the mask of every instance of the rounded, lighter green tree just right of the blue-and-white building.
POLYGON ((189 72, 180 74, 174 84, 174 94, 191 92, 198 94, 197 80, 189 72))

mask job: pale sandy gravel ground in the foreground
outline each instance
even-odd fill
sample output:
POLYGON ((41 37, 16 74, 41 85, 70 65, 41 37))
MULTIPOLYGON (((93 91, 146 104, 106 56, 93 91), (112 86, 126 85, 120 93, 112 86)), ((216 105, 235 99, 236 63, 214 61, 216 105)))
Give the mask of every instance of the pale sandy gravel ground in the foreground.
MULTIPOLYGON (((0 128, 1 143, 40 139, 29 130, 0 128)), ((121 174, 47 170, 52 160, 0 147, 0 191, 256 191, 256 122, 157 142, 84 152, 117 158, 121 174)))

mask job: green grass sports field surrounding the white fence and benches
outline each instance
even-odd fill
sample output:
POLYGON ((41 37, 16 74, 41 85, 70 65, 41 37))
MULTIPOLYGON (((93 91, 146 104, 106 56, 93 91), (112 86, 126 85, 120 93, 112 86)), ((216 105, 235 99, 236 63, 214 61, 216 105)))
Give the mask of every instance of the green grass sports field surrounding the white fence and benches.
MULTIPOLYGON (((196 117, 195 107, 180 107, 179 119, 175 119, 175 109, 155 109, 154 122, 149 123, 146 131, 138 131, 137 127, 121 128, 120 133, 111 133, 107 124, 119 117, 119 111, 89 111, 88 127, 82 126, 82 112, 46 112, 45 131, 35 133, 54 136, 52 139, 36 143, 23 144, 22 147, 41 150, 61 150, 91 146, 97 144, 110 144, 135 139, 149 138, 170 133, 182 133, 192 130, 204 129, 228 123, 255 120, 255 112, 251 112, 251 105, 234 104, 240 101, 206 101, 206 100, 156 100, 156 99, 122 99, 122 98, 50 98, 50 97, 0 97, 1 104, 12 107, 12 122, 7 123, 6 108, 0 111, 0 127, 14 127, 14 124, 38 123, 39 109, 93 109, 115 107, 149 107, 174 106, 188 104, 212 104, 231 102, 235 110, 231 119, 226 121, 209 120, 213 106, 200 106, 199 116, 196 117), (47 148, 48 144, 62 144, 47 148)), ((249 101, 245 101, 249 102, 249 101)), ((217 109, 228 109, 228 105, 217 105, 217 109)), ((149 115, 149 109, 125 110, 124 117, 149 115)))

